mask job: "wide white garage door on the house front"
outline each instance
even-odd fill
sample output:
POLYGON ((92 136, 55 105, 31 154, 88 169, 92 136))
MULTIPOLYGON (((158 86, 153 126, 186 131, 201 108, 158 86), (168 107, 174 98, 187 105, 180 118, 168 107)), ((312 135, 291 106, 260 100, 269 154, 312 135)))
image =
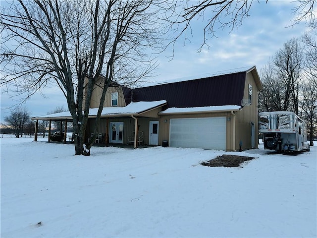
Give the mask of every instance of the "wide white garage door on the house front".
POLYGON ((170 119, 171 147, 226 150, 226 118, 170 119))

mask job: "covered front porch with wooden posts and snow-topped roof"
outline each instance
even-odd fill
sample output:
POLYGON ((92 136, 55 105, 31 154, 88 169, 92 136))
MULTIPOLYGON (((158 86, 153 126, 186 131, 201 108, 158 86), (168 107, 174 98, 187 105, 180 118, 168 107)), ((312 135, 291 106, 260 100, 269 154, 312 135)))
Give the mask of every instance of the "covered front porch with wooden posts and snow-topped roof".
MULTIPOLYGON (((95 146, 144 147, 159 145, 159 112, 167 102, 132 102, 126 107, 104 108, 98 130, 95 146)), ((90 109, 88 124, 84 135, 87 143, 95 131, 95 119, 98 109, 90 109)), ((71 143, 73 138, 67 135, 67 122, 72 121, 70 112, 51 114, 32 118, 36 122, 34 140, 37 141, 39 120, 48 120, 48 142, 59 141, 71 143), (62 121, 59 138, 55 140, 51 133, 52 121, 62 121)))

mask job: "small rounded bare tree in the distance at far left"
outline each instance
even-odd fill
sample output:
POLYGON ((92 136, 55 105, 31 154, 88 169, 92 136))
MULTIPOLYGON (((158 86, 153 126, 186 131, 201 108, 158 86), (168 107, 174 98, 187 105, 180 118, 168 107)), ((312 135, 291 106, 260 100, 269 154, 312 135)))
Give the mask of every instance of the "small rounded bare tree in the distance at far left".
POLYGON ((15 137, 19 138, 22 137, 24 127, 30 122, 30 113, 25 108, 19 108, 4 117, 4 121, 14 130, 15 137))

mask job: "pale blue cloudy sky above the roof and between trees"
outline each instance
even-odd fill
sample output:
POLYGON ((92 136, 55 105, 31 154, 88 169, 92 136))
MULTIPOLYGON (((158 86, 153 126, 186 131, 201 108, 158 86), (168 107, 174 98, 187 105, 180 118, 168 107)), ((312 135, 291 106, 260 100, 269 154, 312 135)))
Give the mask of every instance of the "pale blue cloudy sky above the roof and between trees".
MULTIPOLYGON (((171 50, 158 56, 159 67, 153 82, 176 79, 187 76, 201 75, 215 71, 256 65, 261 74, 261 68, 270 57, 283 47, 283 44, 294 37, 301 37, 308 29, 305 22, 292 26, 293 9, 296 1, 260 0, 252 3, 249 17, 244 19, 242 26, 230 32, 230 29, 216 29, 217 38, 209 38, 210 49, 204 48, 198 53, 203 41, 200 27, 205 22, 198 20, 193 26, 194 35, 189 37, 184 46, 184 39, 176 42, 175 55, 170 61, 171 50)), ((19 98, 4 92, 1 88, 1 123, 3 117, 9 115, 10 107, 19 98)), ((45 98, 40 94, 33 95, 23 106, 31 116, 47 115, 56 107, 67 104, 60 90, 51 86, 43 90, 45 98)))

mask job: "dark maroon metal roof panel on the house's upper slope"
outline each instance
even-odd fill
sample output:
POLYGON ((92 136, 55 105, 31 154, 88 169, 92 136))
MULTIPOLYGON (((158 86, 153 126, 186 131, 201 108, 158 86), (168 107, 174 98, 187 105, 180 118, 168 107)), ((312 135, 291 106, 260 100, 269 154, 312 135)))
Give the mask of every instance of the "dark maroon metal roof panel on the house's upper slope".
POLYGON ((167 107, 240 105, 246 72, 133 89, 133 102, 166 100, 167 107))

